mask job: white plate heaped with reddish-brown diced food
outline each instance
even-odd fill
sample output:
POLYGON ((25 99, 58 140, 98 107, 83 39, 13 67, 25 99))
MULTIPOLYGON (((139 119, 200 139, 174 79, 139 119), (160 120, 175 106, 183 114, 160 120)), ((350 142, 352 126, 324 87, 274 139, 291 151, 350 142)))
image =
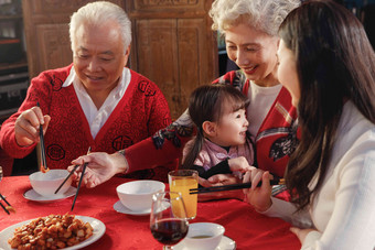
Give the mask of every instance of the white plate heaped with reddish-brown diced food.
POLYGON ((96 218, 75 215, 49 215, 25 220, 0 232, 0 249, 81 249, 105 233, 96 218))

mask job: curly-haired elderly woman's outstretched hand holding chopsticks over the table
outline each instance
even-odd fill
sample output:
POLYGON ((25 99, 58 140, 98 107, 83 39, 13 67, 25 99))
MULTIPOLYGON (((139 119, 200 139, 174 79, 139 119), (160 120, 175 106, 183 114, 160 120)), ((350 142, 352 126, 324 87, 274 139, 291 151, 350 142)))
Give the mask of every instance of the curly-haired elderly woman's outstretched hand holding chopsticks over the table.
MULTIPOLYGON (((88 164, 82 181, 83 184, 89 188, 96 187, 97 185, 107 182, 116 174, 126 173, 128 170, 128 163, 122 154, 117 152, 114 154, 95 152, 79 156, 78 159, 72 161, 72 164, 79 165, 79 167, 73 174, 73 180, 79 180, 83 164, 85 162, 88 164)), ((67 170, 72 171, 73 167, 74 166, 69 166, 67 170)))

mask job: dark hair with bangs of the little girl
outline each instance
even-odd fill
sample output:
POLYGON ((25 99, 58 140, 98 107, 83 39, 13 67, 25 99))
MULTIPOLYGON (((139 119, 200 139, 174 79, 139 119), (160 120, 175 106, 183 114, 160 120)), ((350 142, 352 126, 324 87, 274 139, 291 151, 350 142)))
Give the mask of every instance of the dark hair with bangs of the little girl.
POLYGON ((191 169, 194 165, 194 161, 202 149, 204 141, 203 122, 219 122, 226 104, 232 105, 233 111, 237 111, 248 106, 248 99, 237 88, 224 84, 203 85, 191 94, 189 115, 196 126, 197 132, 193 146, 183 162, 183 169, 191 169))

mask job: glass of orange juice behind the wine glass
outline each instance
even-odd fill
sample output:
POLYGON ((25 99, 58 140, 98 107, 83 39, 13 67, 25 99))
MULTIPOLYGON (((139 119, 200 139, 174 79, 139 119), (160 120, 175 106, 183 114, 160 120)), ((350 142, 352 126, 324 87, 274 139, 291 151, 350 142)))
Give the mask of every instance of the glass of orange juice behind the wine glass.
POLYGON ((199 174, 194 170, 176 170, 168 173, 169 189, 180 193, 186 208, 189 219, 196 216, 197 195, 191 195, 191 188, 197 188, 199 174))

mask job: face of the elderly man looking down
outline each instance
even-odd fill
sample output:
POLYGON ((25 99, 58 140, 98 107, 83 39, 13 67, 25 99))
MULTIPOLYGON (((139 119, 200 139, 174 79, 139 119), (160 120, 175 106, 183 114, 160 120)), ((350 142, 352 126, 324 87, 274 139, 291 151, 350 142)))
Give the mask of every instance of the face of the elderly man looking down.
POLYGON ((130 46, 124 51, 118 24, 82 24, 75 36, 73 63, 78 78, 88 94, 108 95, 117 86, 130 52, 130 46))

